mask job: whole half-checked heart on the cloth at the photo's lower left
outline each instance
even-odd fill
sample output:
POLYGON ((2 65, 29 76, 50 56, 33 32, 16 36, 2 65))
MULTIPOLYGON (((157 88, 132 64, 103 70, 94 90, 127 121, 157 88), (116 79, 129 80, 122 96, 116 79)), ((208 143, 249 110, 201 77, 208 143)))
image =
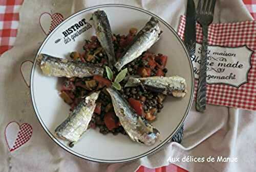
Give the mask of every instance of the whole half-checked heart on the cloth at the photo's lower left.
POLYGON ((32 126, 28 123, 24 123, 20 126, 16 121, 10 122, 5 128, 5 140, 9 151, 15 151, 29 141, 32 132, 32 126))

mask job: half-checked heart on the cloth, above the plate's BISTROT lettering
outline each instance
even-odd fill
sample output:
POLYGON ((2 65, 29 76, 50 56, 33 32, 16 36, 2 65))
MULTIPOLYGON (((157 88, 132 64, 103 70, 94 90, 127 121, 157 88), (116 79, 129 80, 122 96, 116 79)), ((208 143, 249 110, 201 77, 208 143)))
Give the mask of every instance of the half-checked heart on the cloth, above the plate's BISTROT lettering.
POLYGON ((60 13, 50 14, 45 12, 39 17, 40 27, 46 35, 50 34, 52 30, 62 21, 63 16, 60 13))

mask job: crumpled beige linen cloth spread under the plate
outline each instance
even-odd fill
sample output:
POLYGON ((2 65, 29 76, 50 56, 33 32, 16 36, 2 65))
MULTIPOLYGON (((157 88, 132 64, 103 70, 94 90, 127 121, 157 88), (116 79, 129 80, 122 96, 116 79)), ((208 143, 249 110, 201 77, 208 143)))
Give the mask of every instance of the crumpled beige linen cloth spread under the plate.
MULTIPOLYGON (((170 143, 155 155, 127 164, 99 165, 77 158, 54 143, 40 126, 30 101, 29 89, 19 73, 24 60, 33 60, 44 40, 38 18, 43 12, 71 14, 99 4, 134 5, 149 10, 169 22, 176 30, 180 15, 186 11, 185 0, 27 0, 20 9, 20 23, 14 47, 3 54, 0 64, 0 171, 135 171, 139 165, 155 168, 168 165, 169 157, 225 156, 238 162, 176 162, 193 171, 255 171, 256 113, 228 107, 207 105, 205 113, 190 111, 181 144, 170 143), (17 151, 9 152, 4 130, 8 122, 28 122, 33 126, 32 138, 17 151)), ((242 0, 217 0, 214 22, 252 20, 242 0)), ((254 50, 255 51, 255 50, 254 50)), ((46 91, 47 93, 47 91, 46 91)), ((252 95, 254 96, 254 95, 252 95)), ((132 150, 131 150, 132 151, 132 150)))

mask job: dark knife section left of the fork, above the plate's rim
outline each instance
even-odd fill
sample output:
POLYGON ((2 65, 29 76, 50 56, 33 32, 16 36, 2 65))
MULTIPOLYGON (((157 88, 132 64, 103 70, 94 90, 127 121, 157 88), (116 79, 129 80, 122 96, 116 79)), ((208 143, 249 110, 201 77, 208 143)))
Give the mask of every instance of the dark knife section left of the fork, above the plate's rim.
POLYGON ((187 0, 186 23, 184 42, 188 49, 190 57, 196 51, 196 8, 193 0, 187 0))

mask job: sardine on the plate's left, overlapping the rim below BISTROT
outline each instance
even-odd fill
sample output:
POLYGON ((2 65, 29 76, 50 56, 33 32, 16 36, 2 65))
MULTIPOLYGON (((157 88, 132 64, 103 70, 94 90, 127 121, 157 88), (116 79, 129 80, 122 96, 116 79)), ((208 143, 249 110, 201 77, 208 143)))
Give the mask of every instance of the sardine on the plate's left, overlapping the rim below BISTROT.
POLYGON ((90 63, 61 59, 46 54, 40 54, 37 61, 42 72, 47 76, 54 77, 92 77, 94 75, 103 76, 104 68, 90 63))

